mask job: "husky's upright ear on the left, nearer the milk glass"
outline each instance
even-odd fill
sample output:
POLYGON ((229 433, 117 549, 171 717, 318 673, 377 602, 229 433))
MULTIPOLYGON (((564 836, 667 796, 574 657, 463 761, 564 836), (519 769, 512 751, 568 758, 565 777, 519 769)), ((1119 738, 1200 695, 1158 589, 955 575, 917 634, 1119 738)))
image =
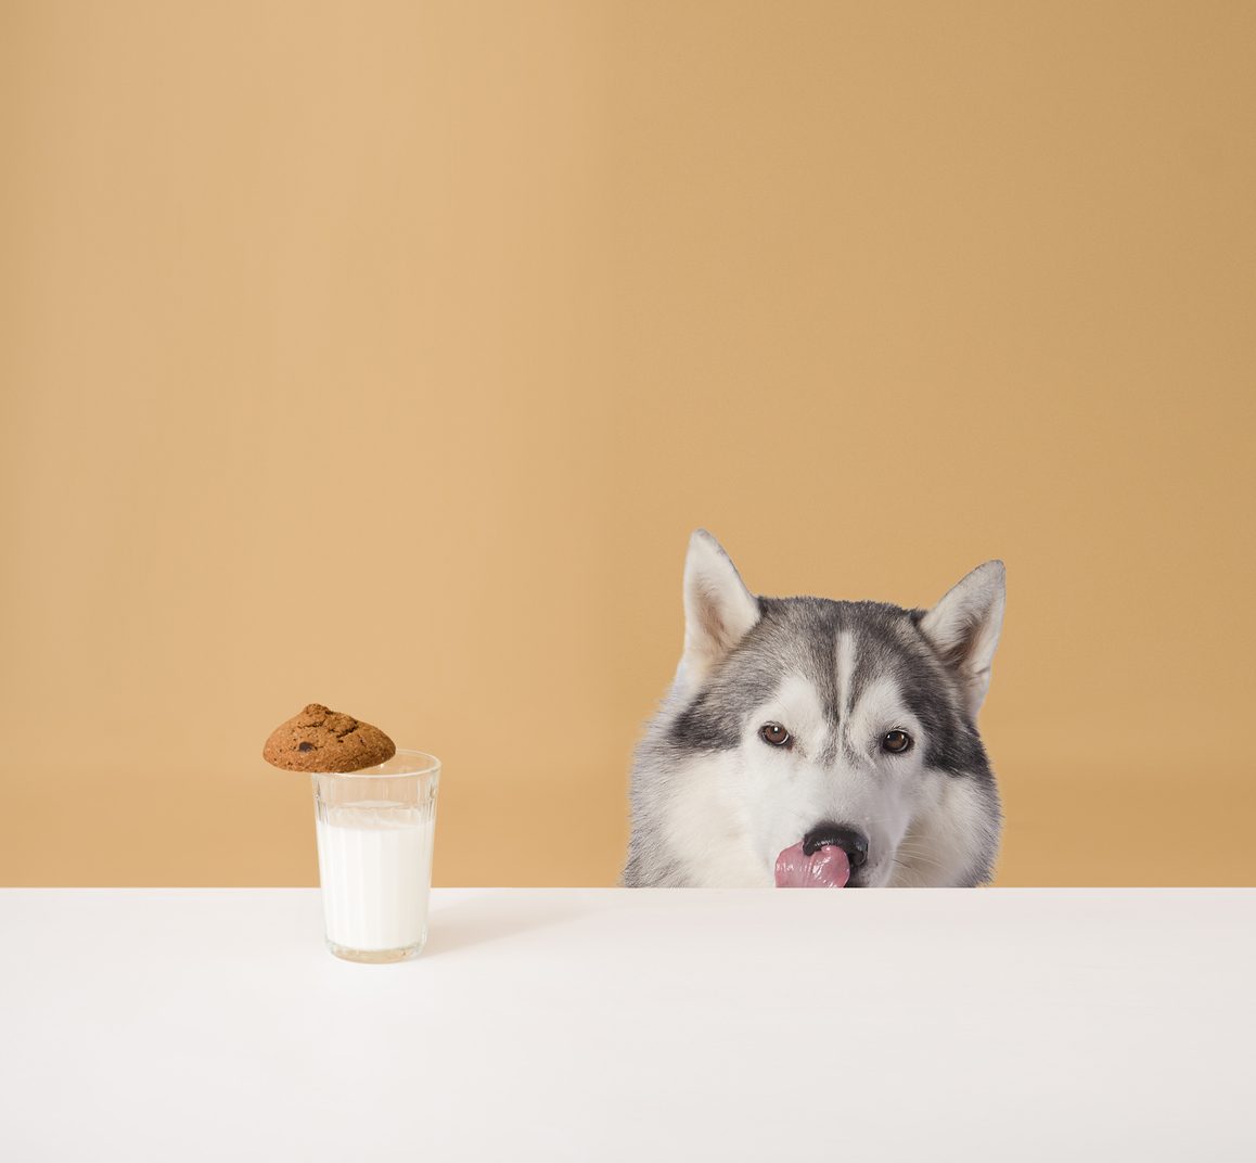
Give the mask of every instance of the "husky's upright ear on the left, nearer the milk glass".
POLYGON ((696 686, 759 620, 759 599, 705 529, 685 559, 685 654, 678 677, 696 686))

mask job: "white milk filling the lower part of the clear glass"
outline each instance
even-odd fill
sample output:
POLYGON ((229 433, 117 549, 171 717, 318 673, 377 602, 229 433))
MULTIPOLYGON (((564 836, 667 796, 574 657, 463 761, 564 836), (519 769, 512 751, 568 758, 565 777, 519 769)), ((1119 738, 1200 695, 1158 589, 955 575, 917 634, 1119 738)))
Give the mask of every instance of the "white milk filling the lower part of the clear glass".
POLYGON ((421 946, 433 813, 388 800, 319 804, 315 826, 327 939, 362 951, 421 946))

